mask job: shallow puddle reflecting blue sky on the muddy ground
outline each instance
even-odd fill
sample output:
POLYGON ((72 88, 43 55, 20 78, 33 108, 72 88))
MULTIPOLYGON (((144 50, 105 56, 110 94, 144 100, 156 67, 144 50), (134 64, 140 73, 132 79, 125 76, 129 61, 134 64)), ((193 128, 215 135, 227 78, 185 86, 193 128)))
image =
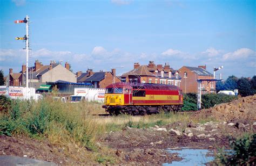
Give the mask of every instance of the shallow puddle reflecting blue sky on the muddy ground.
POLYGON ((205 165, 205 163, 213 161, 213 156, 206 156, 208 152, 207 149, 169 149, 170 153, 178 153, 178 156, 183 158, 181 161, 173 161, 172 163, 164 163, 163 165, 205 165))

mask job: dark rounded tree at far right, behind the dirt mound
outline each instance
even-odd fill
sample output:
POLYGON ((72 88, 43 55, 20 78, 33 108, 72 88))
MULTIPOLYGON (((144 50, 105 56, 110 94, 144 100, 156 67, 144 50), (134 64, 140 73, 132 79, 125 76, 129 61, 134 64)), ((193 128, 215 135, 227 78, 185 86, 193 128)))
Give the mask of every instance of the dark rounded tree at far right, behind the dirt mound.
POLYGON ((254 91, 252 90, 251 83, 248 81, 247 78, 241 77, 238 82, 238 93, 244 97, 244 96, 250 96, 254 94, 254 91))

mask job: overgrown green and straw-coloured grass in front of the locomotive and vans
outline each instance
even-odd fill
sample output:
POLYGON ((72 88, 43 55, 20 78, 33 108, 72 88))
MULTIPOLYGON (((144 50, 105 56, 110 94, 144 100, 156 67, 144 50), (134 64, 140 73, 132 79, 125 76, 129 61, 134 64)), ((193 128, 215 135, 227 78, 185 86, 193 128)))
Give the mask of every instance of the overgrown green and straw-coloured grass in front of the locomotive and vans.
MULTIPOLYGON (((81 163, 87 162, 88 158, 103 164, 117 161, 112 149, 97 145, 97 142, 111 131, 120 131, 126 126, 164 126, 176 121, 186 126, 191 120, 190 113, 97 117, 92 114, 104 113, 100 103, 62 103, 47 97, 38 102, 8 102, 9 106, 5 106, 0 112, 0 134, 23 134, 36 139, 47 139, 52 145, 63 148, 64 155, 81 163)), ((202 119, 195 119, 194 122, 200 120, 202 119)))

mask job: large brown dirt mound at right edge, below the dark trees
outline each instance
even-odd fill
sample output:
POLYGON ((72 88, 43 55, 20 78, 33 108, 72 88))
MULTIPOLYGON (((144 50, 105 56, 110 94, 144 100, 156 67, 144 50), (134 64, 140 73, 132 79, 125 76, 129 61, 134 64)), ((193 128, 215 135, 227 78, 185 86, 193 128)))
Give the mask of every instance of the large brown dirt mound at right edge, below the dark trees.
POLYGON ((223 103, 210 109, 201 110, 196 117, 212 116, 223 121, 253 123, 256 120, 256 95, 242 97, 234 102, 223 103))

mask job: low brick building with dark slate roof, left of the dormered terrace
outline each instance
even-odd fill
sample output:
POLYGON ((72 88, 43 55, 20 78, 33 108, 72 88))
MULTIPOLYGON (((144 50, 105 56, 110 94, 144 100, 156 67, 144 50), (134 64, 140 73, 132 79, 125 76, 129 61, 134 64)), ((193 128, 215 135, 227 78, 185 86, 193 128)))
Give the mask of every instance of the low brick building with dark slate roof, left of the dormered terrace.
POLYGON ((113 82, 120 82, 119 78, 116 77, 116 69, 111 71, 99 71, 93 72, 92 69, 87 70, 86 74, 80 75, 77 80, 80 83, 91 83, 95 88, 106 88, 107 85, 113 82))

